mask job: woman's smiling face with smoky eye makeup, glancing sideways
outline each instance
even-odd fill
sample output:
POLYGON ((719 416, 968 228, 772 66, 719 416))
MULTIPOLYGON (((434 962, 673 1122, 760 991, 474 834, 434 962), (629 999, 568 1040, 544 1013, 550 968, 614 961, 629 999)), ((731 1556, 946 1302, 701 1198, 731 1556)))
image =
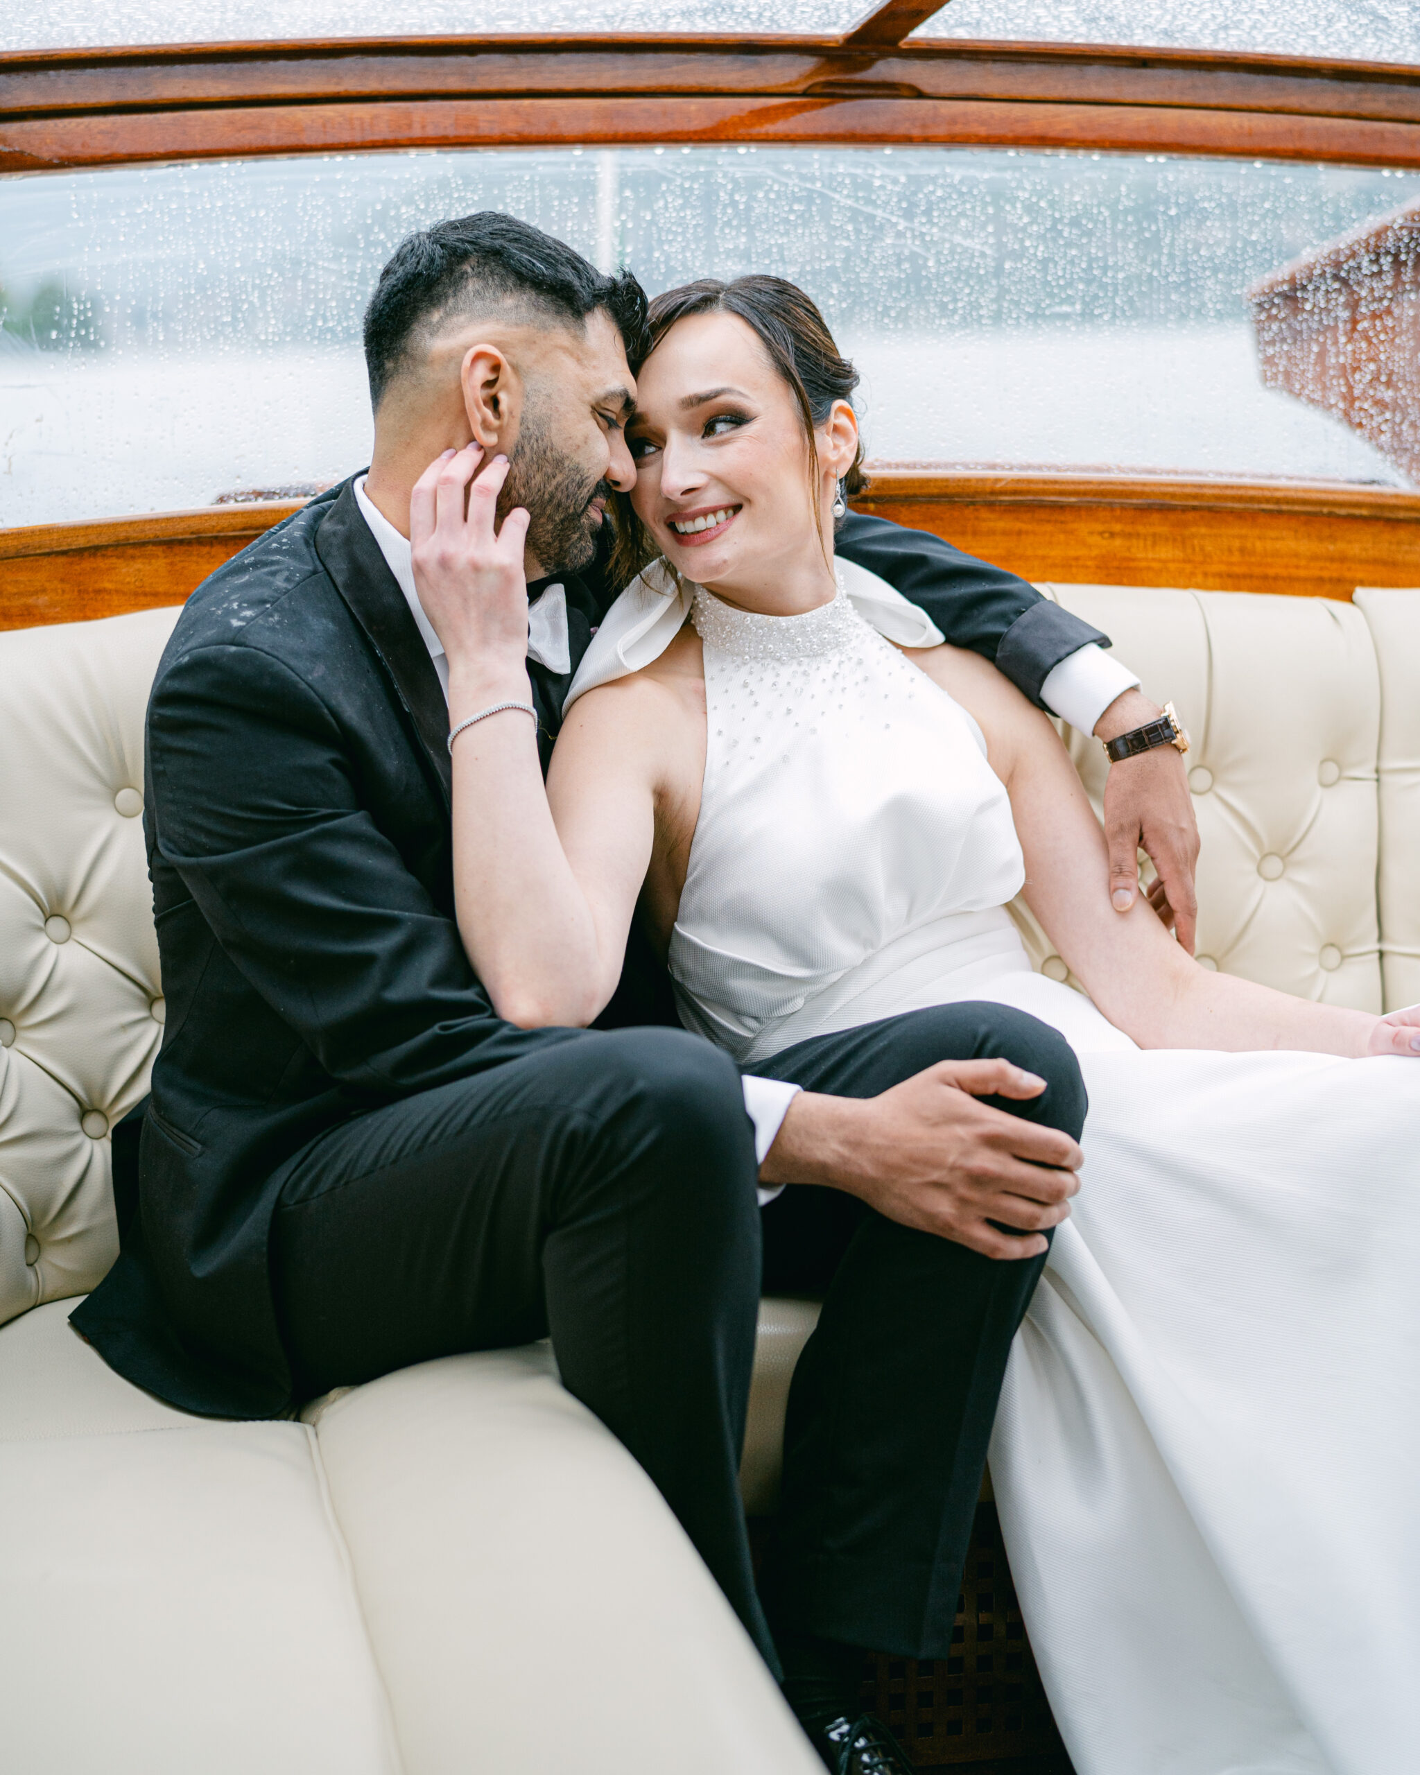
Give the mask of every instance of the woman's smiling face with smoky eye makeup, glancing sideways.
POLYGON ((738 316, 676 321, 635 382, 632 504, 671 566, 721 593, 763 591, 763 609, 832 596, 831 506, 857 447, 847 401, 815 435, 815 524, 799 405, 738 316))

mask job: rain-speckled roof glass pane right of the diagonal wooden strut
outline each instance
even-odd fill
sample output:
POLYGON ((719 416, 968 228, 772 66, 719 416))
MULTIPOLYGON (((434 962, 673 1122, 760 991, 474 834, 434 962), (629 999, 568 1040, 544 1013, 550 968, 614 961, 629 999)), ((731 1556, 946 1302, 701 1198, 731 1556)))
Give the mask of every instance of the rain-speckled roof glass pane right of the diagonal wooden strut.
POLYGON ((1420 64, 1416 0, 950 0, 916 37, 1420 64))

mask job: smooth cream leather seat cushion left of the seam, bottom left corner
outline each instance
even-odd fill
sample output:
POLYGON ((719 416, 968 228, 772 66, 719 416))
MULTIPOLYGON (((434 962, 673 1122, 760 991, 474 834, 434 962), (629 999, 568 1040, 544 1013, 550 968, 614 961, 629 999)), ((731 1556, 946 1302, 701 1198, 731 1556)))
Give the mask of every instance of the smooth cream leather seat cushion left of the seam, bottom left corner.
POLYGON ((398 1775, 314 1432, 169 1411, 66 1308, 0 1331, 0 1763, 398 1775))

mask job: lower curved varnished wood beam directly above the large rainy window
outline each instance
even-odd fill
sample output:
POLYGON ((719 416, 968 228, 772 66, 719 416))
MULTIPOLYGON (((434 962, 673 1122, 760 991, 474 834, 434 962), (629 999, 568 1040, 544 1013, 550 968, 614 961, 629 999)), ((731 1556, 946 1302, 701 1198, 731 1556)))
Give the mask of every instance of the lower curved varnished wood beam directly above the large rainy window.
POLYGON ((39 117, 0 124, 0 172, 389 147, 966 144, 1420 167, 1420 122, 911 98, 422 99, 39 117))

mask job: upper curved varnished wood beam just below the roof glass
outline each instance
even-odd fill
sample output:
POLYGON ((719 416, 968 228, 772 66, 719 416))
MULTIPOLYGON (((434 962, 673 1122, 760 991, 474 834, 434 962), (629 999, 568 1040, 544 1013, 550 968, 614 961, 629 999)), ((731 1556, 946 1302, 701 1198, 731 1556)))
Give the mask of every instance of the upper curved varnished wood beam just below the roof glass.
POLYGON ((1182 105, 1420 121, 1420 69, 1070 44, 547 37, 193 44, 0 57, 0 119, 359 98, 808 94, 1182 105))

